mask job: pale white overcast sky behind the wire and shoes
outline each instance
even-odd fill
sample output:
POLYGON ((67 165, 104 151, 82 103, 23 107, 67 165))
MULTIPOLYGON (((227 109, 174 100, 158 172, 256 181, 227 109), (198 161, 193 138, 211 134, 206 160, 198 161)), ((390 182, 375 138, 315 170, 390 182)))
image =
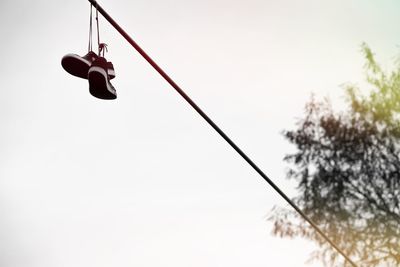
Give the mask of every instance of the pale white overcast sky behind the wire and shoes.
MULTIPOLYGON (((99 3, 290 196, 282 137, 311 92, 340 106, 366 42, 399 54, 395 0, 99 3)), ((0 266, 307 265, 271 236, 283 200, 101 17, 118 99, 66 73, 85 0, 0 2, 0 266)))

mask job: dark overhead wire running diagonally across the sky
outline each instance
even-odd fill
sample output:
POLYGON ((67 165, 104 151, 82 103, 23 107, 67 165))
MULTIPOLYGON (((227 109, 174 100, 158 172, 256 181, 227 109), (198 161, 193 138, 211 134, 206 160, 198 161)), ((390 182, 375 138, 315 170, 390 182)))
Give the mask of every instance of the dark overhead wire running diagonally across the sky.
POLYGON ((88 0, 93 4, 96 9, 103 15, 103 17, 127 40, 133 48, 191 105, 204 120, 214 128, 215 131, 226 141, 228 144, 262 177, 264 180, 292 206, 338 253, 340 253, 347 262, 353 267, 358 267, 349 256, 344 253, 324 232, 305 214, 303 211, 200 109, 199 106, 168 76, 165 71, 157 65, 154 60, 147 55, 147 53, 115 22, 115 20, 108 15, 108 13, 95 1, 88 0))

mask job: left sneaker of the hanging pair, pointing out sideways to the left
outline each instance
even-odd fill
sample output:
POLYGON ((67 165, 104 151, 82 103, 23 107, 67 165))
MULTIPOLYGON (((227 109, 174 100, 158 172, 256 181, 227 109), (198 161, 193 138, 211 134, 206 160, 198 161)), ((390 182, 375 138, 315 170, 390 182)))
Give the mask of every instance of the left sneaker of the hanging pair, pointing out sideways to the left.
POLYGON ((98 56, 93 51, 83 57, 76 54, 68 54, 61 59, 61 65, 69 74, 87 79, 89 68, 97 58, 98 56))

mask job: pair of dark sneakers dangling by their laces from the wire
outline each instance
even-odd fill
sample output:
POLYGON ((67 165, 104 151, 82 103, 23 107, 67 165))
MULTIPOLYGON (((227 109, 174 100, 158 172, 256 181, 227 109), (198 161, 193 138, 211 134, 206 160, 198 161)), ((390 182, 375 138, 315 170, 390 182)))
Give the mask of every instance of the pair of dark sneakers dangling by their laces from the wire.
POLYGON ((115 78, 114 66, 104 57, 89 51, 81 57, 67 54, 61 60, 63 68, 71 75, 88 79, 89 92, 100 99, 116 99, 117 93, 110 80, 115 78))

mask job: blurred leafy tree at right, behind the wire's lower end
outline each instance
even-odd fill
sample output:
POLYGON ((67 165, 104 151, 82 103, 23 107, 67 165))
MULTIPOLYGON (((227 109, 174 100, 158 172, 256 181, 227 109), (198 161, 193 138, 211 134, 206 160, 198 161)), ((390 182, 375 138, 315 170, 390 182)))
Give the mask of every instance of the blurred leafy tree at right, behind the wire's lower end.
MULTIPOLYGON (((288 178, 297 183, 294 202, 360 266, 400 266, 400 65, 386 73, 362 47, 370 93, 346 86, 346 112, 311 98, 297 129, 284 132, 297 148, 285 157, 288 178)), ((313 240, 313 259, 343 266, 294 211, 271 214, 275 235, 313 240)))

